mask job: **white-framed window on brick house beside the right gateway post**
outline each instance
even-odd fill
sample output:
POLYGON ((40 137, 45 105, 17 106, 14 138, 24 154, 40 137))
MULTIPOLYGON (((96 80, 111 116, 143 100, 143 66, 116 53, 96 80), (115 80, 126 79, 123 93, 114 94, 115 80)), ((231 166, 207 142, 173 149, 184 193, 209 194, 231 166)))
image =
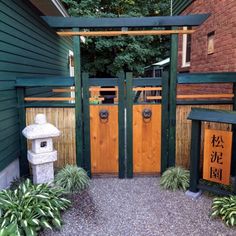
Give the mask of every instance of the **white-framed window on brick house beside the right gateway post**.
MULTIPOLYGON (((188 27, 184 27, 184 30, 187 30, 188 27)), ((182 67, 190 66, 191 60, 191 34, 183 35, 183 48, 182 48, 182 67)))

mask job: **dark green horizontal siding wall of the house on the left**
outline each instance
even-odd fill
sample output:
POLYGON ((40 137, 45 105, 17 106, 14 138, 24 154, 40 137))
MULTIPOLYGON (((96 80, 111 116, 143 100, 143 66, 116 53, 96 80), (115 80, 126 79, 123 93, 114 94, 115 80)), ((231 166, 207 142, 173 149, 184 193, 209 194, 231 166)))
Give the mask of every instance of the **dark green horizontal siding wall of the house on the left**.
MULTIPOLYGON (((71 40, 59 38, 27 0, 0 0, 0 171, 19 156, 15 78, 68 75, 71 40)), ((43 78, 42 78, 43 79, 43 78)), ((27 95, 51 96, 51 89, 27 95)))

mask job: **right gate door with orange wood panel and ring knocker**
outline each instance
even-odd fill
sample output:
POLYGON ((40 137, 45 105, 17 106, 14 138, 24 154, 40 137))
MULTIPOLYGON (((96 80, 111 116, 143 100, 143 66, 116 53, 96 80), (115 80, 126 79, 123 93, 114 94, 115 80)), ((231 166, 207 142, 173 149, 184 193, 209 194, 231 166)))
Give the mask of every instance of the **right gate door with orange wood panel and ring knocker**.
POLYGON ((133 79, 129 75, 126 81, 127 177, 131 178, 133 174, 157 175, 166 167, 166 160, 161 158, 166 151, 166 145, 162 143, 166 132, 162 132, 162 79, 133 79))

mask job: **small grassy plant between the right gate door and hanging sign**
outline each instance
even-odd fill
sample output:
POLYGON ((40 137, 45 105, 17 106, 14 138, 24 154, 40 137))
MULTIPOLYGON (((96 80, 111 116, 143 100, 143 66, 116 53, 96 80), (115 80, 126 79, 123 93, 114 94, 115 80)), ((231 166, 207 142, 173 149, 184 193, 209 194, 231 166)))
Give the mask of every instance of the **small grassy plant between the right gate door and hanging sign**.
POLYGON ((190 173, 182 167, 171 167, 166 170, 160 179, 160 185, 163 189, 172 191, 186 190, 189 187, 190 173))

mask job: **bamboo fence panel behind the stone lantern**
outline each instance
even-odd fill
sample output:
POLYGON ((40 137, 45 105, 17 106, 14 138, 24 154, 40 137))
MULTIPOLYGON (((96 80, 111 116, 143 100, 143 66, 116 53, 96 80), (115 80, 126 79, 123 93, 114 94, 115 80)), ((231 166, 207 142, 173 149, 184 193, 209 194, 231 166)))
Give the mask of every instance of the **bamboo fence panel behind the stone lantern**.
MULTIPOLYGON (((56 168, 62 168, 66 164, 76 164, 75 154, 75 109, 74 108, 27 108, 26 123, 34 123, 34 117, 45 114, 47 121, 55 125, 61 135, 53 138, 54 148, 58 151, 56 168)), ((28 143, 30 147, 30 142, 28 143)))

